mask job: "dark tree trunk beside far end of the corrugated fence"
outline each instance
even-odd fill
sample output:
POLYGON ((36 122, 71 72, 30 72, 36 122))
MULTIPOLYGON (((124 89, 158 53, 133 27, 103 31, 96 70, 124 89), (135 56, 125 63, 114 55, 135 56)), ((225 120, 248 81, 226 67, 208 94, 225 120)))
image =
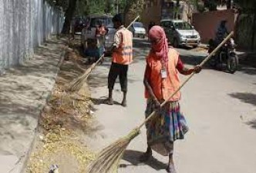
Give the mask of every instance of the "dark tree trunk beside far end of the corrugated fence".
POLYGON ((77 0, 69 0, 69 7, 66 9, 65 12, 65 22, 62 28, 62 34, 69 34, 72 17, 76 10, 76 2, 77 0))

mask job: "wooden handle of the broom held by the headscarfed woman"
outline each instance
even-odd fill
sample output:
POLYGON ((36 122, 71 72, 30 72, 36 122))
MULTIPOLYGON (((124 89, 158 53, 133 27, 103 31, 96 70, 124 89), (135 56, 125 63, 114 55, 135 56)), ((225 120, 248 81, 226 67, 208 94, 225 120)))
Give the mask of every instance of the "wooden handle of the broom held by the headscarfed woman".
MULTIPOLYGON (((217 48, 214 49, 213 52, 211 52, 210 55, 207 56, 207 58, 204 59, 203 62, 200 63, 200 67, 202 67, 230 38, 231 36, 234 35, 234 32, 231 32, 229 35, 227 35, 227 38, 224 39, 224 41, 221 42, 220 45, 217 46, 217 48)), ((195 72, 193 72, 183 83, 182 85, 180 85, 179 88, 177 88, 176 91, 173 92, 172 95, 170 95, 170 97, 166 100, 166 101, 163 101, 163 103, 161 104, 160 108, 163 108, 164 105, 167 104, 167 102, 170 100, 170 98, 172 98, 174 95, 177 94, 178 91, 180 91, 181 88, 184 87, 184 85, 190 80, 190 78, 192 78, 194 76, 195 72)), ((143 121, 143 123, 138 127, 139 129, 143 127, 143 125, 145 125, 147 123, 147 121, 150 121, 151 118, 153 118, 153 115, 155 115, 157 113, 157 111, 153 111, 150 116, 148 116, 146 118, 145 121, 143 121)))

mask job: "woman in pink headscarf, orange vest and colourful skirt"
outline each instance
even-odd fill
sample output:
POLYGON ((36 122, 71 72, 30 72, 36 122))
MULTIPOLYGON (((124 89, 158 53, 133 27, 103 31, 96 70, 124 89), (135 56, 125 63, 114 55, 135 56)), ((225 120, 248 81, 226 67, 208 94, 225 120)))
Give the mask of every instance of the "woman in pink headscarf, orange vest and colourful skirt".
POLYGON ((140 161, 152 157, 152 150, 160 155, 169 156, 167 172, 176 173, 173 165, 173 142, 183 139, 187 133, 187 123, 180 112, 180 92, 160 108, 160 104, 180 86, 178 72, 190 75, 200 72, 200 66, 188 69, 181 62, 178 52, 168 47, 167 37, 160 26, 153 26, 149 32, 150 54, 147 56, 147 68, 144 75, 145 97, 147 98, 146 116, 157 110, 156 118, 147 123, 147 152, 140 161))

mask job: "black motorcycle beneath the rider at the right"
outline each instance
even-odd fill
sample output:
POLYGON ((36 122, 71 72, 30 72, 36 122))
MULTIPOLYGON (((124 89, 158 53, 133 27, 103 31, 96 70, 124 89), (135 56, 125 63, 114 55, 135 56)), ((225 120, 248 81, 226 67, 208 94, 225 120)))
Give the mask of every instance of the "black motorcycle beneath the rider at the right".
MULTIPOLYGON (((235 47, 236 44, 234 43, 234 39, 231 38, 222 48, 220 51, 218 51, 213 58, 210 61, 210 65, 217 69, 219 68, 219 65, 221 65, 221 69, 223 69, 223 65, 226 66, 227 71, 231 74, 234 74, 234 72, 238 69, 238 57, 235 53, 235 47)), ((214 48, 216 48, 216 44, 214 44, 214 41, 211 39, 209 42, 209 49, 208 53, 213 52, 214 48)))

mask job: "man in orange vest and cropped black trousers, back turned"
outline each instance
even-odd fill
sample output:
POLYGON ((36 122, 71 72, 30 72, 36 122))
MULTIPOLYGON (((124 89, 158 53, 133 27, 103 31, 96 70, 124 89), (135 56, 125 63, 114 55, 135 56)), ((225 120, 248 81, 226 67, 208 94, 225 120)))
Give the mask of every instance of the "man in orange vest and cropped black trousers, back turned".
POLYGON ((112 50, 112 64, 109 69, 108 88, 109 98, 107 103, 113 105, 113 87, 119 76, 123 101, 121 105, 126 107, 127 72, 128 66, 133 62, 133 34, 124 27, 123 15, 117 14, 113 17, 113 25, 116 28, 112 50))

